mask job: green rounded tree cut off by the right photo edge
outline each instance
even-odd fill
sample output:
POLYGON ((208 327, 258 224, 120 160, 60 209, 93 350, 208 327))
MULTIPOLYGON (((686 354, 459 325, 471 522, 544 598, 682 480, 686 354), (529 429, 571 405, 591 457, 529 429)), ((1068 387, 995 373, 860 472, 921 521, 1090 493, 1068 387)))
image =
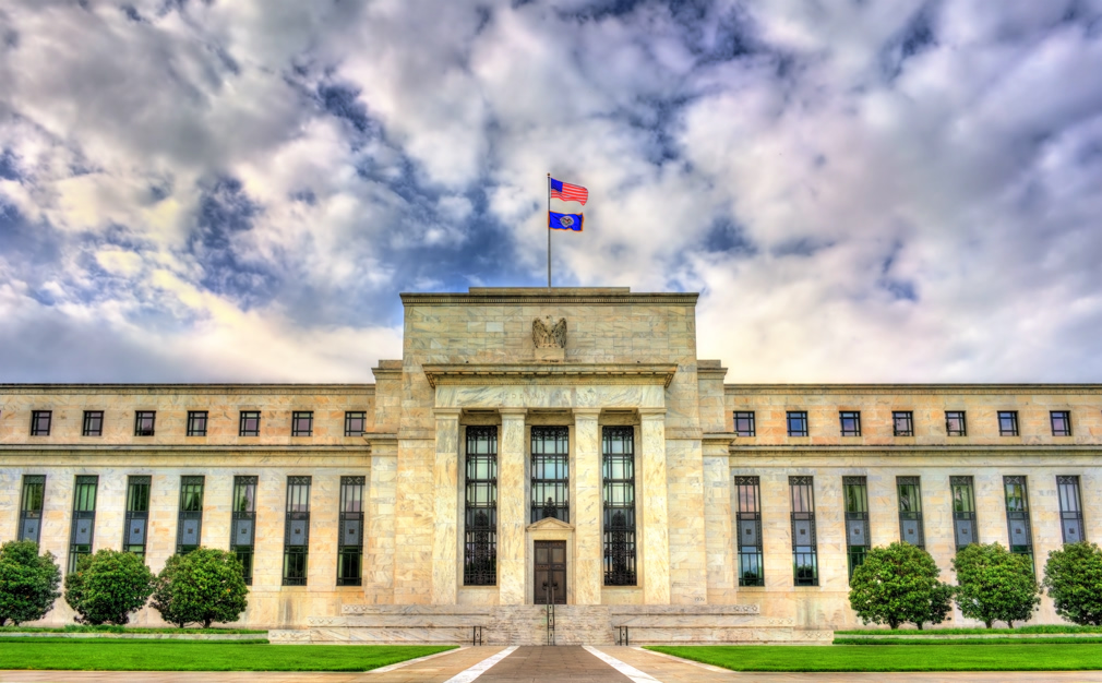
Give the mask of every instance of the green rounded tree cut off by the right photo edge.
POLYGON ((1048 554, 1045 581, 1056 614, 1080 626, 1102 626, 1102 550, 1094 543, 1069 543, 1048 554))

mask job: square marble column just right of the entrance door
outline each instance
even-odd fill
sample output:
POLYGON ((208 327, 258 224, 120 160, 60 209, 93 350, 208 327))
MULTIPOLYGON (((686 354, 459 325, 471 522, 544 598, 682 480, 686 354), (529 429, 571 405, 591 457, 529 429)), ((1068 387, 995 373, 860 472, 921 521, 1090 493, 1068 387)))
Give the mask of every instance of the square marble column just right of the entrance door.
POLYGON ((601 431, 598 409, 574 409, 574 603, 599 605, 602 568, 601 431))

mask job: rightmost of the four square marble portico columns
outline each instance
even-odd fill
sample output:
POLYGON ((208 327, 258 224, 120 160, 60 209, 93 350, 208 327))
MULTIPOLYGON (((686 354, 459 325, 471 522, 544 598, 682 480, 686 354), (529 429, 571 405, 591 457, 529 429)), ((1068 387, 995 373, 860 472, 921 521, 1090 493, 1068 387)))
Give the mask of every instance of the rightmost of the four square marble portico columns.
POLYGON ((642 491, 642 601, 670 604, 670 536, 666 479, 666 409, 640 408, 639 463, 642 491))

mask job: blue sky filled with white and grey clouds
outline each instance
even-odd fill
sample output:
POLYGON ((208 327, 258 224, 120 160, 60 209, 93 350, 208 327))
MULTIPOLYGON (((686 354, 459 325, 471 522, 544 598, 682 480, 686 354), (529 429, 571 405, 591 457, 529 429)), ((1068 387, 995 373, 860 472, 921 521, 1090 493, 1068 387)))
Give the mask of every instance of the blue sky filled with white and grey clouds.
POLYGON ((555 283, 728 382, 1099 382, 1100 67, 1089 1, 3 0, 0 381, 370 381, 544 283, 551 171, 555 283))

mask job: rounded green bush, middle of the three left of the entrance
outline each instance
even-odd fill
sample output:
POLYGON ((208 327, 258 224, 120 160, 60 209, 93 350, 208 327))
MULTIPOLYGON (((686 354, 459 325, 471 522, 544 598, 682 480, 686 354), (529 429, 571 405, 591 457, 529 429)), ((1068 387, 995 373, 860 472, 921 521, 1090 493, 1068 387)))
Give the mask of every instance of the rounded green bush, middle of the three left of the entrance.
POLYGON ((82 557, 76 572, 65 577, 65 601, 80 624, 121 626, 145 605, 153 581, 140 556, 105 549, 82 557))

